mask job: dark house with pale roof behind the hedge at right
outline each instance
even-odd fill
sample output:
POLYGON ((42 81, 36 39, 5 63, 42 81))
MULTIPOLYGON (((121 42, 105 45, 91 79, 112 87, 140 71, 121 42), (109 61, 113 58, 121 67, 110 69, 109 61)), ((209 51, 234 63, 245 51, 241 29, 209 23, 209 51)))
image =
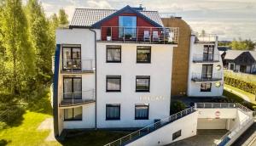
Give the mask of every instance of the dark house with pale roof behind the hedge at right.
POLYGON ((224 68, 248 74, 256 73, 256 51, 229 50, 224 56, 224 68))

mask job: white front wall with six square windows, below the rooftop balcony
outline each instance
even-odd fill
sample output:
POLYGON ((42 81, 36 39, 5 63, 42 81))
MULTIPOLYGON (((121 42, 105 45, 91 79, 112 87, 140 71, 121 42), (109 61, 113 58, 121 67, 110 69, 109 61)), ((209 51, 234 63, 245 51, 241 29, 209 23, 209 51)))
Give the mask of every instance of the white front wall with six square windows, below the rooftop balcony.
POLYGON ((97 42, 97 127, 141 127, 169 116, 174 45, 151 44, 151 64, 137 64, 137 46, 97 42), (121 45, 121 63, 106 63, 106 45, 121 45), (121 76, 121 92, 106 93, 106 76, 121 76), (150 76, 150 93, 136 93, 136 76, 150 76), (120 120, 106 121, 106 104, 120 104, 120 120), (149 104, 149 120, 135 120, 135 104, 149 104))

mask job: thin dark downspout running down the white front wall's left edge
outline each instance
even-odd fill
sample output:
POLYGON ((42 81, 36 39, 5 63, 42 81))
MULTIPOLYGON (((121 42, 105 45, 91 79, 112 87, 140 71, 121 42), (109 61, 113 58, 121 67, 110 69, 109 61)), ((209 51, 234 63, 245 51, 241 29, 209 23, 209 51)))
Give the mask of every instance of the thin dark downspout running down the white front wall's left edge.
POLYGON ((95 128, 97 128, 97 64, 96 64, 96 31, 89 29, 94 32, 94 53, 95 53, 95 128))

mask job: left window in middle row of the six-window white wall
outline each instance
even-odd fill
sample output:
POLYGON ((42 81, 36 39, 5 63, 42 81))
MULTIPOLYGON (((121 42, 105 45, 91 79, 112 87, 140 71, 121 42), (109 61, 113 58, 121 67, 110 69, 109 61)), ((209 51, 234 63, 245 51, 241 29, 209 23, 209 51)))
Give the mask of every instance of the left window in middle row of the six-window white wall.
POLYGON ((107 76, 106 91, 107 92, 120 92, 121 91, 121 76, 107 76))

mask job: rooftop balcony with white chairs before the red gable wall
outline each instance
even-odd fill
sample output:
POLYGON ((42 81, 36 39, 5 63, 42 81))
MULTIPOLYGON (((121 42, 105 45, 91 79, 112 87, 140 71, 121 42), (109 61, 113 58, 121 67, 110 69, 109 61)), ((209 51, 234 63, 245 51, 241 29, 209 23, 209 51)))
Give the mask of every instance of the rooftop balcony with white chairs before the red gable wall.
POLYGON ((98 42, 177 44, 178 27, 102 26, 98 42))

